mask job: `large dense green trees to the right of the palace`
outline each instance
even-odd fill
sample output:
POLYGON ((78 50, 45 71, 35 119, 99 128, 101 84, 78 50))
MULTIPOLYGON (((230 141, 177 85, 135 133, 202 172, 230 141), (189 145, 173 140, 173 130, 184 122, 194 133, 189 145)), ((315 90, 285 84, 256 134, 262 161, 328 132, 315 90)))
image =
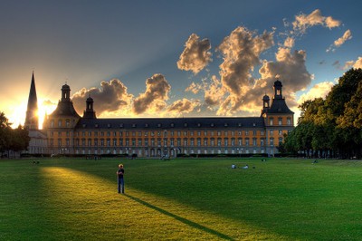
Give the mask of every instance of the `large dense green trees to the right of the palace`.
POLYGON ((299 108, 298 126, 281 150, 313 158, 361 158, 362 69, 345 72, 326 100, 305 101, 299 108))

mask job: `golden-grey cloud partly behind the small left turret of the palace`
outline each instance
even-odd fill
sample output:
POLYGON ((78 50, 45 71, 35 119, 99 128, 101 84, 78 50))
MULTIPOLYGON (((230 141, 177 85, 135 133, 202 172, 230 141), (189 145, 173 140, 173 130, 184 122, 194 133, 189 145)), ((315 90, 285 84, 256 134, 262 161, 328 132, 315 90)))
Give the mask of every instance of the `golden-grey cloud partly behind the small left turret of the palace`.
POLYGON ((127 92, 127 87, 119 80, 110 82, 100 82, 99 88, 85 88, 76 92, 72 96, 75 109, 81 114, 85 110, 86 100, 91 97, 94 101, 94 110, 97 116, 107 111, 119 111, 120 108, 127 108, 132 99, 132 95, 127 92))

